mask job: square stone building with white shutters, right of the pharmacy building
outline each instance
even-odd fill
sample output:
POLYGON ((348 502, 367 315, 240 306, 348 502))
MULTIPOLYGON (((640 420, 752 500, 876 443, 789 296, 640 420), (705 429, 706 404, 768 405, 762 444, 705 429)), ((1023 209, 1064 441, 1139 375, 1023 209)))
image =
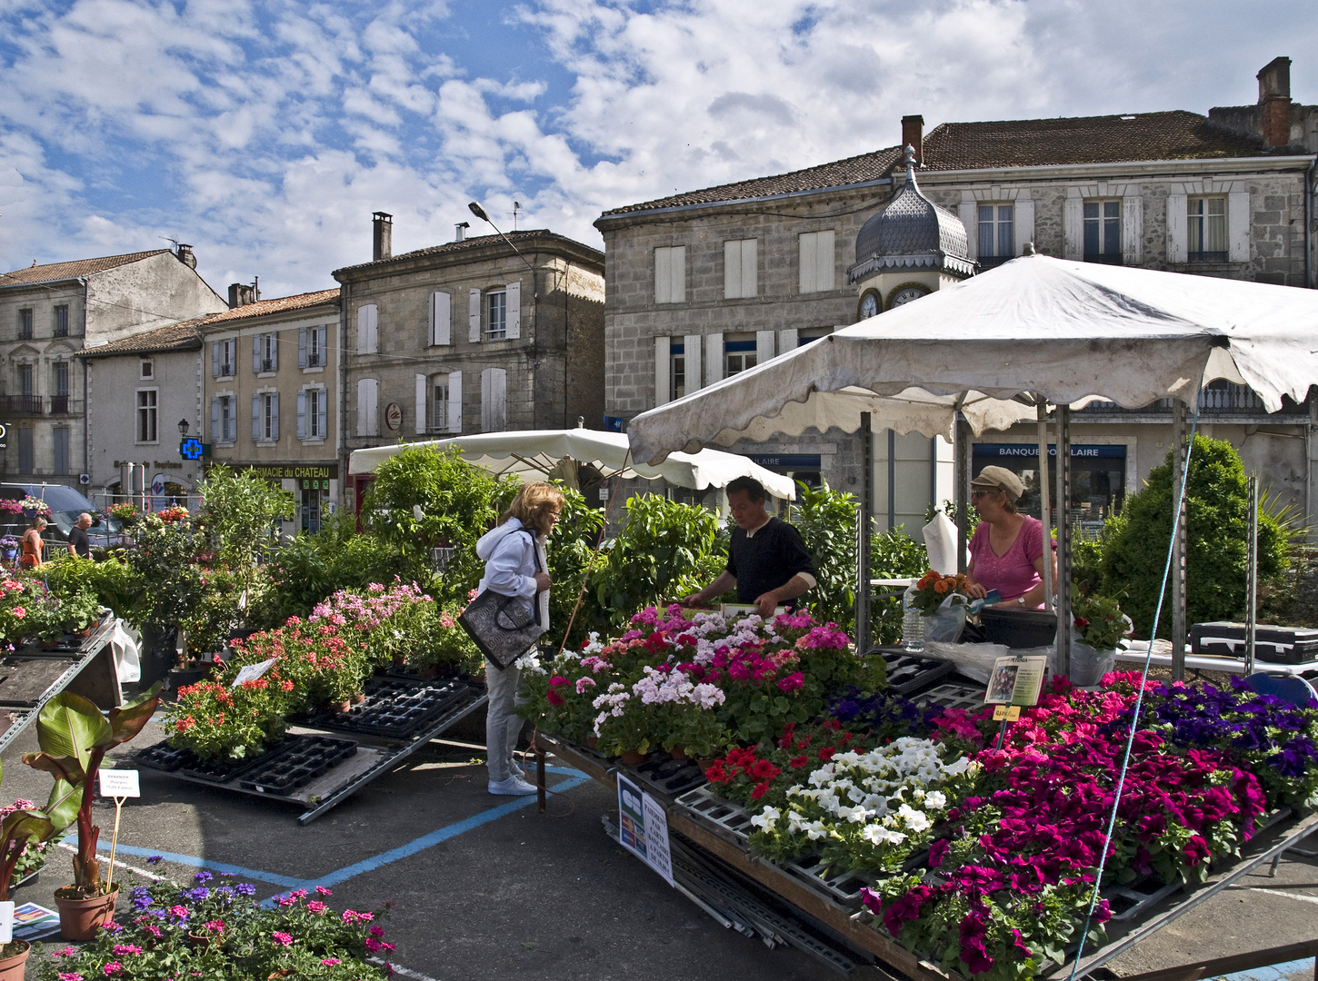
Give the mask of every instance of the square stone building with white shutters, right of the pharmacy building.
POLYGON ((376 258, 333 274, 344 465, 355 449, 398 440, 600 425, 600 252, 542 229, 391 255, 387 220, 376 217, 376 258))

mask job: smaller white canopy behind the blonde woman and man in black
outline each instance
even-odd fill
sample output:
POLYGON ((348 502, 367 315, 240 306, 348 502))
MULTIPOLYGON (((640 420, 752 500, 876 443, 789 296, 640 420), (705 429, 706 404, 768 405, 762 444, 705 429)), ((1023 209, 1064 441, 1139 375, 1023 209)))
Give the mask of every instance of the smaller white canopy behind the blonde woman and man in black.
POLYGON ((353 450, 348 458, 349 474, 369 474, 381 462, 409 446, 456 446, 463 460, 492 474, 546 477, 561 473, 563 460, 590 464, 605 477, 663 478, 676 487, 705 490, 726 487, 737 477, 754 477, 775 498, 796 499, 791 477, 775 474, 735 453, 697 450, 672 453, 659 464, 637 464, 629 457, 627 437, 600 429, 529 429, 523 432, 455 436, 448 440, 405 442, 353 450))

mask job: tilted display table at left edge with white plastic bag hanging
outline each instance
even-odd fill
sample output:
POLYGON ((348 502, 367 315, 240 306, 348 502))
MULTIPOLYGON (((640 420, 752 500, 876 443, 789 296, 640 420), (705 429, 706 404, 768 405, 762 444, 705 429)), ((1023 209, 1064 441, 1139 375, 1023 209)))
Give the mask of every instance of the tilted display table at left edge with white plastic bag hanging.
POLYGON ((108 711, 124 701, 119 685, 119 669, 109 637, 115 631, 113 618, 101 623, 90 637, 45 650, 28 644, 0 657, 0 724, 8 716, 8 727, 0 732, 0 752, 4 752, 37 712, 61 691, 72 691, 91 699, 98 708, 108 711))

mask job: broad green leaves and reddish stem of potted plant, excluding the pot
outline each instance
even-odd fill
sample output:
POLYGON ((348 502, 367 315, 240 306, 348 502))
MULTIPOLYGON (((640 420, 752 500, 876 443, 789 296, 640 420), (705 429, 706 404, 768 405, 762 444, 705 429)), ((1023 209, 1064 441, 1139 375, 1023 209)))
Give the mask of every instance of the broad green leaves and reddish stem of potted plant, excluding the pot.
POLYGON ((96 843, 100 828, 92 824, 91 805, 96 797, 96 774, 105 753, 133 739, 150 722, 161 702, 161 686, 153 685, 130 702, 104 716, 82 695, 62 691, 37 714, 38 753, 24 753, 22 761, 45 770, 55 780, 51 801, 63 812, 63 801, 75 791, 78 806, 78 853, 74 856, 74 885, 70 898, 94 898, 113 890, 100 880, 96 843))

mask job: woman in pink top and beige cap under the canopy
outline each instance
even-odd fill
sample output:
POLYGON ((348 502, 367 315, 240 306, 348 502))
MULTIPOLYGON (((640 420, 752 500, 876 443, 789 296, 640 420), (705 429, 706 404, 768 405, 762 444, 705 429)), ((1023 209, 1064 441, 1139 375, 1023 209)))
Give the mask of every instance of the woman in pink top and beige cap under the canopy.
MULTIPOLYGON (((998 590, 996 606, 1039 610, 1044 604, 1044 524, 1016 510, 1025 487, 1002 466, 986 466, 970 482, 970 500, 983 519, 970 539, 970 595, 998 590)), ((1052 544, 1053 582, 1057 582, 1057 544, 1052 544)))

